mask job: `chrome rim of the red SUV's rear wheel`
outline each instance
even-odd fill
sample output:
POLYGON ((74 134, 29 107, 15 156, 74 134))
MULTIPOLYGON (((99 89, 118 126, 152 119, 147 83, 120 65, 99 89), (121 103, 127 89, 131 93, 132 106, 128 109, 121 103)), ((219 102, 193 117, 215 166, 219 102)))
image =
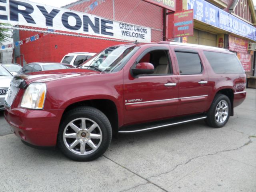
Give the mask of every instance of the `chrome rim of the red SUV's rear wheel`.
POLYGON ((217 123, 224 123, 228 117, 228 103, 225 100, 221 100, 215 109, 215 120, 217 123))

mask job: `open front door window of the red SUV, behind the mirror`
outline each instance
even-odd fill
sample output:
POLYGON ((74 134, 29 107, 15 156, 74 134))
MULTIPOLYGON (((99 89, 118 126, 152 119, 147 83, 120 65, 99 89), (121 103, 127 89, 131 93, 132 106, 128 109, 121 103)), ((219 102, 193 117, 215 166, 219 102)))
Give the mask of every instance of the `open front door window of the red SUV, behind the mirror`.
POLYGON ((153 50, 146 53, 139 61, 153 64, 155 70, 152 75, 172 74, 169 53, 166 50, 153 50))

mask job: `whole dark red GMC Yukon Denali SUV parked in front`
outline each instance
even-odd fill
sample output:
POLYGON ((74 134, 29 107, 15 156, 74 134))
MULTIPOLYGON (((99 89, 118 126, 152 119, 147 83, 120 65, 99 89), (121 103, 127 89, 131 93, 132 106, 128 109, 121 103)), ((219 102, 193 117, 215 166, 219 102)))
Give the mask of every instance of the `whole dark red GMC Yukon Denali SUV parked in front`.
MULTIPOLYGON (((86 62, 87 63, 87 62, 86 62)), ((159 42, 107 48, 84 69, 15 76, 5 118, 21 140, 89 161, 112 136, 205 120, 224 126, 246 97, 246 76, 225 49, 159 42)))

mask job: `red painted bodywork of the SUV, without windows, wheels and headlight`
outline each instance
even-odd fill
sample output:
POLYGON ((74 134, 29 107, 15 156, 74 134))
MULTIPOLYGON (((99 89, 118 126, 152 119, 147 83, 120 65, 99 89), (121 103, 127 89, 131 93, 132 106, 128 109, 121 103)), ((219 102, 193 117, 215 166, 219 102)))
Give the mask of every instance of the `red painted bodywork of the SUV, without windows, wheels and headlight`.
POLYGON ((118 112, 118 126, 122 127, 207 112, 214 96, 222 89, 232 90, 234 107, 241 104, 246 96, 245 75, 215 74, 204 57, 202 48, 191 48, 199 52, 204 68, 202 74, 180 75, 174 48, 184 47, 168 44, 136 44, 136 46, 140 48, 119 72, 103 73, 68 69, 20 75, 27 84, 46 83, 44 110, 20 108, 24 93, 21 89, 11 108, 5 112, 6 120, 15 132, 20 131, 26 137, 27 142, 39 146, 52 146, 56 144, 58 127, 64 110, 76 102, 111 100, 118 112), (130 69, 136 59, 152 46, 169 50, 173 74, 134 78, 130 74, 130 69), (208 83, 201 85, 198 84, 199 81, 208 81, 208 83), (167 83, 176 83, 176 86, 165 86, 167 83), (201 97, 192 98, 194 96, 201 97), (136 102, 139 103, 135 104, 136 102))

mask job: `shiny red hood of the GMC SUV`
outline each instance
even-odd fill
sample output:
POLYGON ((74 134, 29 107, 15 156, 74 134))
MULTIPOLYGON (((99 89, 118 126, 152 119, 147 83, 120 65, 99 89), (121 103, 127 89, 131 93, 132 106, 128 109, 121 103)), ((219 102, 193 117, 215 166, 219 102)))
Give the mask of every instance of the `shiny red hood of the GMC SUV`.
POLYGON ((20 74, 14 77, 14 81, 25 80, 26 84, 30 84, 31 82, 50 82, 50 81, 58 81, 61 79, 77 78, 81 76, 91 76, 91 75, 97 75, 97 74, 104 74, 104 72, 72 68, 72 69, 64 69, 64 70, 61 69, 61 70, 51 70, 51 71, 33 72, 28 74, 20 74))

